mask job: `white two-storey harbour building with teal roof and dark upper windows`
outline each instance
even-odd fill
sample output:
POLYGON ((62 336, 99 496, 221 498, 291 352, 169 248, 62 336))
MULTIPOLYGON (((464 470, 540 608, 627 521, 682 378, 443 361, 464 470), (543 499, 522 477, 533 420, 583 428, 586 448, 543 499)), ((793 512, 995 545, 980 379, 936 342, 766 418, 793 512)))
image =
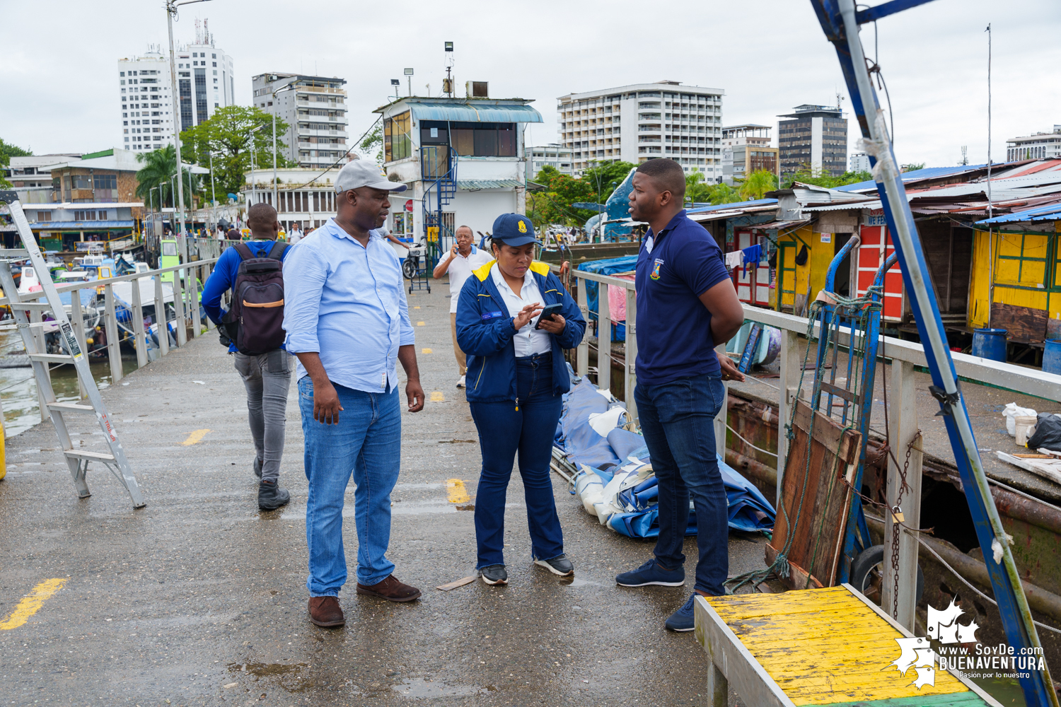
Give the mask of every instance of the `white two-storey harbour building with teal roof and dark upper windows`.
MULTIPOLYGON (((486 82, 474 83, 488 90, 486 82)), ((457 226, 485 233, 498 214, 524 213, 524 131, 527 123, 542 122, 530 103, 412 96, 377 108, 383 117, 384 169, 390 180, 408 184, 390 197, 388 227, 414 238, 438 228, 445 250, 457 226)))

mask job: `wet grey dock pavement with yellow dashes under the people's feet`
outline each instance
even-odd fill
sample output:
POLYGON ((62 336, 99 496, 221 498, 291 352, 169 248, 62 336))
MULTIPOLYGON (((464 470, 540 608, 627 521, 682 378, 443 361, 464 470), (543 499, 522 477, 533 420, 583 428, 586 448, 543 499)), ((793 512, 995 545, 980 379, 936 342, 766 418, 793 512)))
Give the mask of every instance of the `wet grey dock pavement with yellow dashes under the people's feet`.
MULTIPOLYGON (((663 629, 691 585, 616 587, 615 572, 640 565, 651 543, 601 527, 559 477, 574 580, 530 564, 515 474, 510 584, 434 588, 473 573, 480 466, 455 388, 447 290, 410 297, 413 322, 423 322, 416 333, 429 403, 403 413, 388 554, 396 576, 423 590, 420 601, 390 604, 348 586, 345 628, 309 623, 297 393, 292 386, 281 476, 292 502, 259 512, 243 386, 210 333, 103 392, 146 508, 133 511, 95 467, 93 495, 79 500, 50 423, 7 440, 0 705, 708 704, 702 650, 691 633, 663 629), (38 590, 36 613, 15 611, 53 579, 65 582, 38 590)), ((98 428, 73 428, 86 448, 103 446, 98 428)), ((352 502, 351 487, 351 578, 352 502)), ((731 535, 730 573, 762 567, 764 543, 731 535)), ((695 542, 685 553, 696 556, 695 542)))

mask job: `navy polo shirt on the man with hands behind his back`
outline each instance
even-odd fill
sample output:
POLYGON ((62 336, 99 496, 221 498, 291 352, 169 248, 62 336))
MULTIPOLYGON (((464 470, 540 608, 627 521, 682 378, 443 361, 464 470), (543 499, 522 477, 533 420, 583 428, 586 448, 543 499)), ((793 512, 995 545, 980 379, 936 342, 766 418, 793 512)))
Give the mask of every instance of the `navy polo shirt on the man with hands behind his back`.
POLYGON ((718 244, 684 210, 658 234, 648 230, 634 280, 638 383, 653 386, 721 373, 711 313, 699 297, 729 277, 718 244))

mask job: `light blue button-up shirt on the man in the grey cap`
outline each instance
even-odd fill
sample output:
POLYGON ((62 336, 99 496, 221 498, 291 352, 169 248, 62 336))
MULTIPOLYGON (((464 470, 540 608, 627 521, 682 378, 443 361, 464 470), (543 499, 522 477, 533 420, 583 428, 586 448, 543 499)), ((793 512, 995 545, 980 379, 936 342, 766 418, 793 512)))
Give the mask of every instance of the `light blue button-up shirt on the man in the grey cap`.
POLYGON ((362 246, 329 218, 292 246, 283 329, 288 351, 320 354, 332 383, 372 393, 397 387, 398 347, 415 336, 401 264, 386 238, 372 231, 362 246))

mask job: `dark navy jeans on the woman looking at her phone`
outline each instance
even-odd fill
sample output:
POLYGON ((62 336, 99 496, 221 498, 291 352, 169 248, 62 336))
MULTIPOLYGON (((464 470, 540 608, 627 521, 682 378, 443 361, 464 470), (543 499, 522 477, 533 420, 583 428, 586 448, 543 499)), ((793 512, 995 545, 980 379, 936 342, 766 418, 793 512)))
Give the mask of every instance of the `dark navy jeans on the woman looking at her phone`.
POLYGON ((549 471, 562 402, 553 394, 552 354, 517 358, 516 390, 519 409, 514 401, 469 404, 483 453, 483 471, 475 491, 476 569, 505 564, 505 494, 517 453, 530 552, 539 560, 563 554, 563 532, 549 471))

